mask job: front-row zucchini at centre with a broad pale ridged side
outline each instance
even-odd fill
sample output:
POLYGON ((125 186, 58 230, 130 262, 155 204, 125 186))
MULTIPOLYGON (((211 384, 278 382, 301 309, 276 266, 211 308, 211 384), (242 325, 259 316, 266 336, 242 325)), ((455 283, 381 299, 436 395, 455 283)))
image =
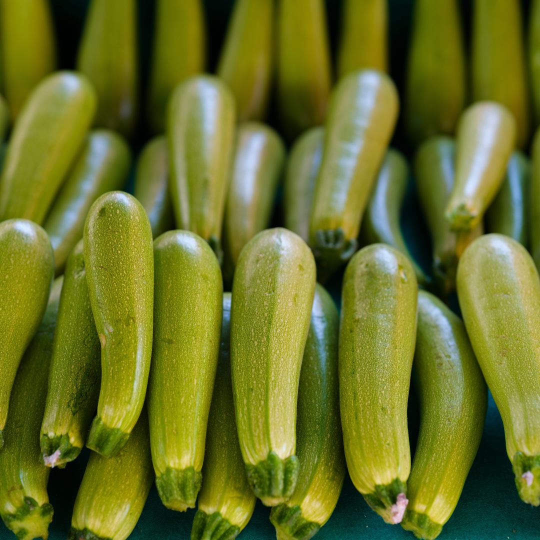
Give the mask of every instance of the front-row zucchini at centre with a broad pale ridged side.
POLYGON ((266 506, 285 502, 298 478, 296 399, 315 293, 315 261, 283 228, 246 244, 233 280, 231 373, 247 478, 266 506))

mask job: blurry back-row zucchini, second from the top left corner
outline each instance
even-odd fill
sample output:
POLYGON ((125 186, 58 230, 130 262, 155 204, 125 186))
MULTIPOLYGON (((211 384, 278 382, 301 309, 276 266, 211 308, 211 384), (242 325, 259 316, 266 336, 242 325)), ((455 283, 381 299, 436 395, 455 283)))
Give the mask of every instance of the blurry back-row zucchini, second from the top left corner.
POLYGON ((137 2, 91 0, 77 54, 77 71, 96 87, 94 125, 133 133, 138 107, 137 2))

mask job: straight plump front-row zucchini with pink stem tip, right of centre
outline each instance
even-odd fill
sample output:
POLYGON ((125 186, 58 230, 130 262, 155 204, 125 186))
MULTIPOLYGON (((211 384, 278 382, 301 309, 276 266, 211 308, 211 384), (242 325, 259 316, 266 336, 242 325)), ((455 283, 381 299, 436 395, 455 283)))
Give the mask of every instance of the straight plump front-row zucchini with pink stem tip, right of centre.
POLYGON ((416 300, 416 276, 397 249, 372 244, 347 265, 339 341, 345 457, 356 489, 387 523, 399 523, 407 506, 416 300))

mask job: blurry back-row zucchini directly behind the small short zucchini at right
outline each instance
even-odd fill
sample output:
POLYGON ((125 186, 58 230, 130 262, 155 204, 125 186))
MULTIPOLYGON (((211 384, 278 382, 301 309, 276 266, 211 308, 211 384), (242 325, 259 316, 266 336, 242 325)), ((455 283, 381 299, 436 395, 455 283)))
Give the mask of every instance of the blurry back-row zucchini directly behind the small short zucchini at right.
POLYGON ((519 0, 474 0, 471 44, 474 101, 508 107, 517 124, 517 146, 529 140, 529 88, 519 0))

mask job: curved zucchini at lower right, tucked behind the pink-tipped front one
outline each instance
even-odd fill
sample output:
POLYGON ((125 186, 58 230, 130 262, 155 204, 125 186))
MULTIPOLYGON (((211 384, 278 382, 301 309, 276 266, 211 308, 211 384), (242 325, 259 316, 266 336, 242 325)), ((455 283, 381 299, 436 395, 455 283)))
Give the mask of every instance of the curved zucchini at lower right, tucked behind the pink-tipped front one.
POLYGON ((488 390, 463 322, 425 291, 418 293, 413 383, 420 434, 401 526, 433 540, 454 512, 476 456, 488 390))

